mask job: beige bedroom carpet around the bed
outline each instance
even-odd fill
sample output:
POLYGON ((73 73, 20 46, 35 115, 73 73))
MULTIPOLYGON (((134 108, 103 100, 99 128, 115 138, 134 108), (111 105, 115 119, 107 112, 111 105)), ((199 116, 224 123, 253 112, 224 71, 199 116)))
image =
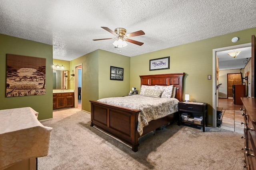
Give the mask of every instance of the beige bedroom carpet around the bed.
POLYGON ((48 156, 38 170, 243 170, 244 140, 237 132, 207 132, 172 124, 140 140, 138 152, 90 127, 78 109, 54 112, 42 124, 53 128, 48 156))

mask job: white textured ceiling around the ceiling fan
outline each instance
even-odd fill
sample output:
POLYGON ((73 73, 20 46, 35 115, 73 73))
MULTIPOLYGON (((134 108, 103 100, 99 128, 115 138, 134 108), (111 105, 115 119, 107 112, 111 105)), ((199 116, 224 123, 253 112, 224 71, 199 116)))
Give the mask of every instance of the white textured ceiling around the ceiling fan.
POLYGON ((255 0, 0 0, 0 33, 53 45, 53 58, 119 53, 105 26, 143 30, 122 55, 136 56, 256 27, 255 0))

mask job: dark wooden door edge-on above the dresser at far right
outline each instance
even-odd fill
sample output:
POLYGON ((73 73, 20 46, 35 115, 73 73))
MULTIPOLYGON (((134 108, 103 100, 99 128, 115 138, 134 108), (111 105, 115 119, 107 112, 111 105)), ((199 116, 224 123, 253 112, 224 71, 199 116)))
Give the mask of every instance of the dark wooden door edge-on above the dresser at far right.
POLYGON ((252 35, 252 83, 251 83, 251 96, 255 97, 255 55, 256 55, 256 47, 255 47, 256 38, 255 35, 252 35))

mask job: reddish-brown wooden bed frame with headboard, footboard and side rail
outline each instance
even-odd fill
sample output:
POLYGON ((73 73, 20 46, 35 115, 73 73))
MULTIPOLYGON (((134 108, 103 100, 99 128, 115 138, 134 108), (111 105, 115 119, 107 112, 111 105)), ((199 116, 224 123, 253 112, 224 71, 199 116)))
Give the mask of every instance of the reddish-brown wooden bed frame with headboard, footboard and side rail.
MULTIPOLYGON (((148 86, 176 86, 176 96, 179 101, 182 101, 182 84, 185 73, 175 74, 155 74, 140 76, 141 85, 148 86)), ((126 144, 132 146, 134 152, 138 151, 138 138, 141 136, 137 131, 138 114, 140 110, 115 106, 95 100, 91 102, 91 125, 96 126, 105 132, 122 140, 126 144)), ((164 118, 152 120, 148 126, 143 128, 143 135, 174 121, 175 114, 170 114, 164 118)))

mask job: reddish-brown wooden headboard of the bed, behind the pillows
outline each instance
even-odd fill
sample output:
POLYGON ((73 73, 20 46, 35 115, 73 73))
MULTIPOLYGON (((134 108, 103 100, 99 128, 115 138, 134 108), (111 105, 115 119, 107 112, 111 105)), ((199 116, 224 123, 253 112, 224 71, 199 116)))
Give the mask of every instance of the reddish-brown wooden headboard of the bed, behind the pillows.
POLYGON ((146 85, 146 86, 170 86, 174 85, 176 86, 176 95, 175 98, 177 98, 180 102, 182 100, 182 91, 183 91, 183 76, 185 73, 172 73, 172 74, 154 74, 154 75, 145 75, 140 76, 140 86, 146 85))

